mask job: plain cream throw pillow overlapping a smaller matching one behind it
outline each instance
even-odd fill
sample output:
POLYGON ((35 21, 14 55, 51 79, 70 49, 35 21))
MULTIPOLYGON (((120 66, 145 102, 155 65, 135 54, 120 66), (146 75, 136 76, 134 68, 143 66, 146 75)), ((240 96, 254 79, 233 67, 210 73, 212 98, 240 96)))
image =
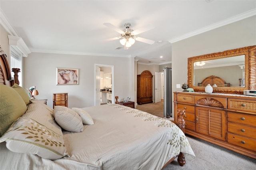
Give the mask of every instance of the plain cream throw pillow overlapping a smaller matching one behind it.
POLYGON ((84 130, 81 117, 68 107, 55 106, 53 116, 60 127, 67 131, 82 132, 84 130))

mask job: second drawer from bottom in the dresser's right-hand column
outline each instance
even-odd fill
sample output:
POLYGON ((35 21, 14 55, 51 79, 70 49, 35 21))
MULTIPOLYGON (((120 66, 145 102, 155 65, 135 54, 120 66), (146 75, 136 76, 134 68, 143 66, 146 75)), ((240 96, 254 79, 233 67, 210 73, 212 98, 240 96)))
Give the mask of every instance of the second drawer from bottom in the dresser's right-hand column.
MULTIPOLYGON (((228 132, 256 139, 256 128, 228 122, 228 132)), ((256 146, 255 146, 256 147, 256 146)))

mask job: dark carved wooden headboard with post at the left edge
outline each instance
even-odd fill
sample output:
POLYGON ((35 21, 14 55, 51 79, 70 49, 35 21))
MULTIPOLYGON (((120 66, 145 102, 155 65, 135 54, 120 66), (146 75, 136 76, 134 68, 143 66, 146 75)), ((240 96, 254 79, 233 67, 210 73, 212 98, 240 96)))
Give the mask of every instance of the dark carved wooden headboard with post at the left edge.
POLYGON ((11 75, 11 70, 10 70, 10 66, 8 64, 7 61, 7 56, 4 53, 4 51, 2 50, 2 47, 0 46, 0 84, 3 85, 8 85, 8 86, 12 86, 14 85, 14 82, 19 84, 18 82, 18 72, 20 72, 20 69, 13 69, 14 72, 14 78, 15 80, 12 79, 12 75, 11 75))

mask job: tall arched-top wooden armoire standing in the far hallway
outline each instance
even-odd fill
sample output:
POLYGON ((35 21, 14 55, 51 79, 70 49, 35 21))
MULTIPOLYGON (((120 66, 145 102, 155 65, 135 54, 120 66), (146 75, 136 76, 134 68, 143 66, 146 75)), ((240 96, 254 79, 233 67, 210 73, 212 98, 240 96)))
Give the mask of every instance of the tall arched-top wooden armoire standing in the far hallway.
POLYGON ((137 75, 137 103, 152 103, 152 77, 150 71, 145 70, 137 75))

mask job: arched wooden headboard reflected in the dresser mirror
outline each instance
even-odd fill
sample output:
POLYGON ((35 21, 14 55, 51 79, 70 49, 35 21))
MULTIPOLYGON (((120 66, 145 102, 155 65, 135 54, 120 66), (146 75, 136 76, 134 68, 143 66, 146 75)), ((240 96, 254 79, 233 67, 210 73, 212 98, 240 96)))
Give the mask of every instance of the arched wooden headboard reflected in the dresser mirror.
POLYGON ((211 75, 209 77, 206 77, 201 83, 198 83, 198 86, 206 86, 210 84, 213 86, 216 84, 217 86, 228 86, 230 87, 230 83, 226 83, 222 78, 217 77, 215 75, 211 75))

